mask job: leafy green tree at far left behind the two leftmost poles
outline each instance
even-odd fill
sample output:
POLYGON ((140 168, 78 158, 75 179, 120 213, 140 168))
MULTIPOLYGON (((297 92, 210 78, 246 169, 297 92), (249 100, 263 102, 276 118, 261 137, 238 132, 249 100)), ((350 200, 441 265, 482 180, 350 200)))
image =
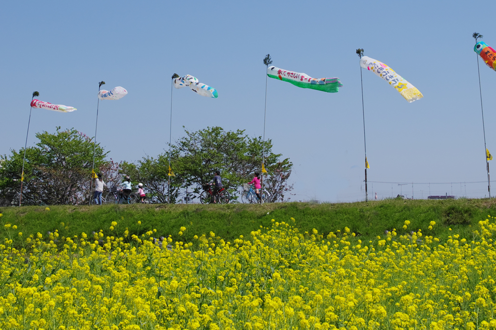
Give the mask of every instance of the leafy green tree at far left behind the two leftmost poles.
MULTIPOLYGON (((81 204, 89 197, 93 158, 92 139, 74 128, 56 133, 37 133, 36 147, 27 148, 24 166, 23 204, 81 204)), ((4 202, 20 193, 24 150, 0 156, 0 195, 4 202)), ((96 146, 95 167, 106 164, 103 148, 96 146)))

